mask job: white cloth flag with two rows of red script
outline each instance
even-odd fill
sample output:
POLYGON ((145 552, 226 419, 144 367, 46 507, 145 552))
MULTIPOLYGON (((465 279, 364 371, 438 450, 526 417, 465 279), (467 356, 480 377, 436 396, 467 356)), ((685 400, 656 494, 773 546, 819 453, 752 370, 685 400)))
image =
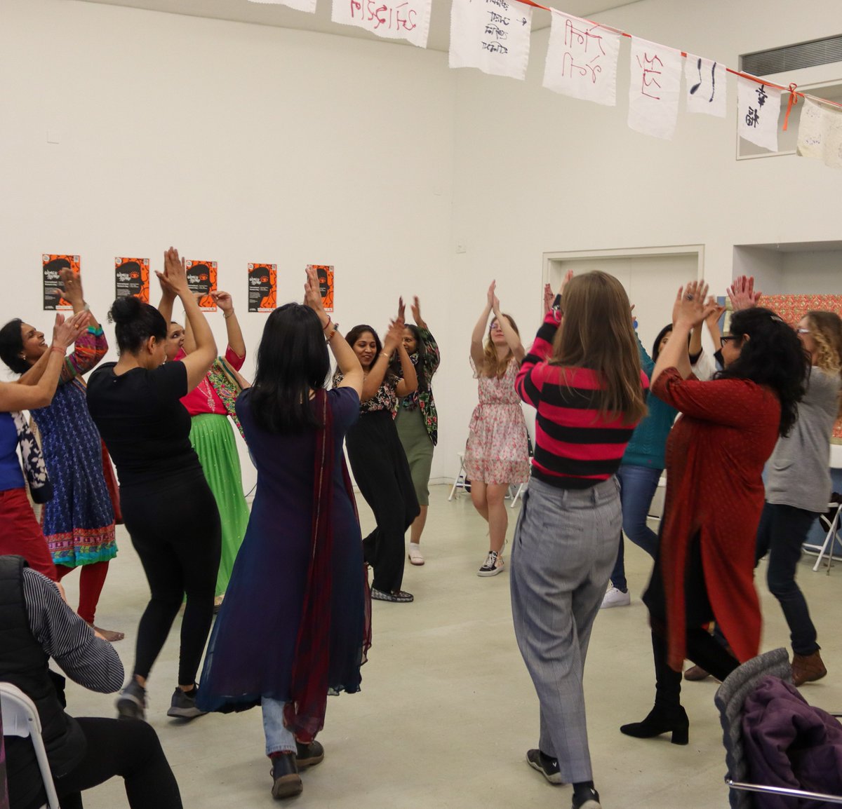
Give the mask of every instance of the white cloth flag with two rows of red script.
POLYGON ((614 107, 621 34, 551 8, 544 87, 555 93, 614 107))

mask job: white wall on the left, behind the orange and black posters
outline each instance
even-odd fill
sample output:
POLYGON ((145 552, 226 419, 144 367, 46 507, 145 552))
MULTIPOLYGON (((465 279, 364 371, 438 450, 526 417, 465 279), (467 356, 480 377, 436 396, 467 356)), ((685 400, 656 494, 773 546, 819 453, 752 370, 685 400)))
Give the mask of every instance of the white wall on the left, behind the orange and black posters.
MULTIPOLYGON (((114 257, 160 269, 170 244, 219 262, 252 349, 266 315, 246 312, 249 261, 278 264, 280 302, 301 297, 307 263, 334 264, 344 329, 385 327, 400 293, 421 296, 431 325, 445 320, 455 82, 442 54, 3 0, 0 75, 3 322, 51 323, 45 251, 82 256, 104 320, 114 257)), ((248 461, 243 473, 248 489, 248 461)))

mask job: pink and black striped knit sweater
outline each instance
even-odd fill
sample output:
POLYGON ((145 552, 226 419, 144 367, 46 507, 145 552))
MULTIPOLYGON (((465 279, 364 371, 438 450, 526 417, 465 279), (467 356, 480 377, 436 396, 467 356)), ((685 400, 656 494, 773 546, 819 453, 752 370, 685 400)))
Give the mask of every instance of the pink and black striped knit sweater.
MULTIPOLYGON (((520 365, 515 387, 538 411, 532 474, 559 489, 587 489, 616 473, 636 425, 600 415, 602 382, 596 372, 546 362, 557 328, 550 311, 520 365)), ((640 376, 647 389, 646 374, 640 376)))

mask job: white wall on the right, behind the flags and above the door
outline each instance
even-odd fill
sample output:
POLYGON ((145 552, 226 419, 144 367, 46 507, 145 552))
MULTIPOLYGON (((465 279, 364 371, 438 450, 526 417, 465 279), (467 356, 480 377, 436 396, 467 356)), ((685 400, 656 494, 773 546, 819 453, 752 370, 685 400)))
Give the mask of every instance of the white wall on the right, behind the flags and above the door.
MULTIPOLYGON (((741 53, 842 29, 842 3, 641 0, 596 19, 737 68, 741 53)), ((797 156, 735 160, 733 77, 726 119, 681 109, 674 140, 658 140, 626 125, 628 40, 617 106, 605 108, 541 87, 548 35, 532 37, 526 82, 459 71, 453 230, 466 252, 453 256, 453 301, 478 313, 483 284, 497 278, 524 326, 539 306, 544 252, 691 244, 705 247, 711 292, 723 294, 735 244, 839 238, 842 174, 797 156)), ((839 65, 825 70, 839 77, 839 65)), ((466 346, 470 320, 451 330, 454 345, 466 346)), ((457 423, 470 404, 453 412, 457 423)))

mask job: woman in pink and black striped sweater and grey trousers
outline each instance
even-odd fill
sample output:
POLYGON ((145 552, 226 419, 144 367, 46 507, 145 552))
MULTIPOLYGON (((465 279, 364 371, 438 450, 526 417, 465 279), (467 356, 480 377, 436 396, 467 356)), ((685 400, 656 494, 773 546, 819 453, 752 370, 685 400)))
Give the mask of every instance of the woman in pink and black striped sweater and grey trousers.
POLYGON ((568 273, 516 387, 538 411, 532 478, 511 563, 514 632, 541 703, 531 767, 599 809, 582 677, 590 630, 617 555, 615 473, 646 412, 629 301, 605 272, 568 273))

